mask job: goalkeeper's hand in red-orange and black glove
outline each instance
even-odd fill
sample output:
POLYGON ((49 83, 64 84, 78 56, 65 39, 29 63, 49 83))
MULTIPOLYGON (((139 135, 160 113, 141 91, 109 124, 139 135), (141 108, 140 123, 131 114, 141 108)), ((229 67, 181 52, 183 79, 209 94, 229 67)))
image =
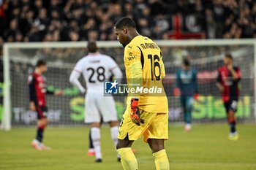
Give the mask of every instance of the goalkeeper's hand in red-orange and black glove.
POLYGON ((140 125, 140 123, 143 123, 145 122, 145 120, 143 119, 140 119, 140 110, 139 110, 139 107, 138 107, 138 102, 139 102, 139 99, 138 98, 132 98, 131 99, 131 114, 130 114, 130 117, 132 119, 132 122, 135 123, 136 125, 140 125))

